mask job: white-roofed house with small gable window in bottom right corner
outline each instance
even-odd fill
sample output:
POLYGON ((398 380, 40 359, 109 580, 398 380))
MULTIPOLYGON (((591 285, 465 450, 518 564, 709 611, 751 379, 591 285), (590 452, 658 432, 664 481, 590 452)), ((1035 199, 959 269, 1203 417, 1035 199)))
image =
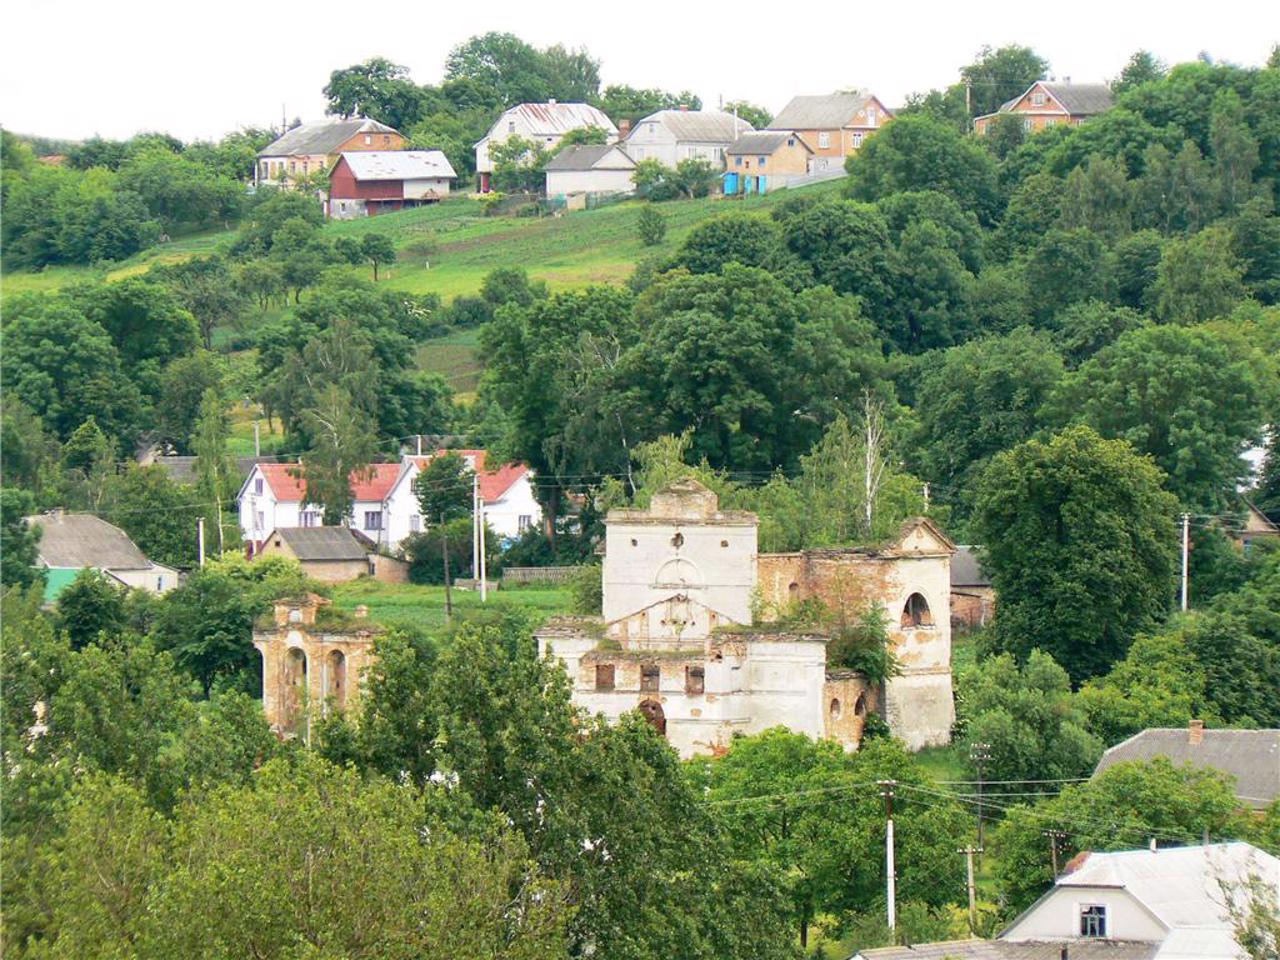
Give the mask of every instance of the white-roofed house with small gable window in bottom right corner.
POLYGON ((1280 859, 1249 844, 1083 852, 996 940, 863 950, 854 960, 1238 960, 1226 910, 1257 877, 1275 902, 1280 859))

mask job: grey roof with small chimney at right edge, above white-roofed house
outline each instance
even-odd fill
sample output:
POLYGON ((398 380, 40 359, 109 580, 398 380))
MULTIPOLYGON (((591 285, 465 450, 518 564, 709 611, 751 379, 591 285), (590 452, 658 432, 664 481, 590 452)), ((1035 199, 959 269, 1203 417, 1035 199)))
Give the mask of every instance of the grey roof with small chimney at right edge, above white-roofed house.
POLYGON ((1280 730, 1206 730, 1198 744, 1185 727, 1152 727, 1116 744, 1098 760, 1093 776, 1126 760, 1166 756, 1235 777, 1235 795, 1263 808, 1280 796, 1280 730))

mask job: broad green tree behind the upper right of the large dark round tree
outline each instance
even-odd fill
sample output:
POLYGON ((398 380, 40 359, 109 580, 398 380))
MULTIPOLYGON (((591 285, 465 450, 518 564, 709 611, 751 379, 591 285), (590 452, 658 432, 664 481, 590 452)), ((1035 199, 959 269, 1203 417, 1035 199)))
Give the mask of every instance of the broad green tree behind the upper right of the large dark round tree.
POLYGON ((1128 440, 1184 503, 1211 508, 1242 476, 1262 429, 1260 357, 1238 335, 1147 326, 1123 334, 1062 383, 1061 420, 1128 440))

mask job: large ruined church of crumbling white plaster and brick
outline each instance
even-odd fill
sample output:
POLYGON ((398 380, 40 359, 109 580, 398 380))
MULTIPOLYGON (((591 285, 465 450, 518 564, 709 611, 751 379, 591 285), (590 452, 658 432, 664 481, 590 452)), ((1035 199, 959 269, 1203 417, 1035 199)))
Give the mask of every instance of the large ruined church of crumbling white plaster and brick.
POLYGON ((759 554, 758 527, 692 479, 655 493, 648 509, 611 511, 602 617, 556 618, 538 632, 575 703, 611 719, 639 709, 682 756, 774 726, 854 749, 870 712, 913 748, 946 742, 950 628, 932 621, 929 602, 946 602, 950 541, 916 521, 882 550, 759 554), (902 676, 877 689, 828 666, 826 636, 754 620, 756 604, 777 612, 808 596, 887 605, 902 676))

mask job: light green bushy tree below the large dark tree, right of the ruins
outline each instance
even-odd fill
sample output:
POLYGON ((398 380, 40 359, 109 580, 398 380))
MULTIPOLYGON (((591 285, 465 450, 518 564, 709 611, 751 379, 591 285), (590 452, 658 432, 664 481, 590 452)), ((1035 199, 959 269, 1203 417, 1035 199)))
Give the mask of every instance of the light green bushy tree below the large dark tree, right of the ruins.
POLYGON ((959 677, 965 741, 988 759, 969 760, 973 776, 996 781, 1061 781, 1087 776, 1103 742, 1085 728, 1071 681, 1052 657, 1032 650, 1019 668, 1010 654, 989 657, 959 677))

